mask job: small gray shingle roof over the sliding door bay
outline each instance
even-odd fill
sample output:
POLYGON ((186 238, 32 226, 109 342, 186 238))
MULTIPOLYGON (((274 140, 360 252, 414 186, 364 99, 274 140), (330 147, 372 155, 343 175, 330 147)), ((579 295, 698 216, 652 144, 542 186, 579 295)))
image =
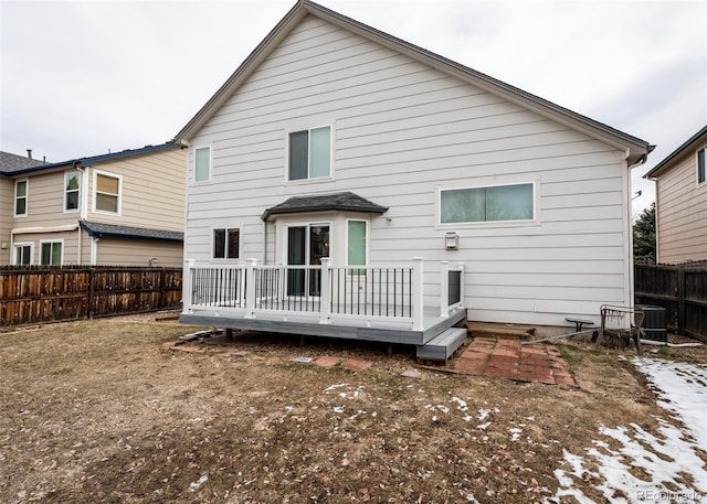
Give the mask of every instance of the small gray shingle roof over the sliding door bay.
POLYGON ((279 205, 267 208, 263 215, 261 215, 261 218, 263 221, 267 221, 271 215, 325 211, 383 214, 388 211, 388 207, 381 206, 351 192, 323 194, 317 196, 292 196, 279 205))

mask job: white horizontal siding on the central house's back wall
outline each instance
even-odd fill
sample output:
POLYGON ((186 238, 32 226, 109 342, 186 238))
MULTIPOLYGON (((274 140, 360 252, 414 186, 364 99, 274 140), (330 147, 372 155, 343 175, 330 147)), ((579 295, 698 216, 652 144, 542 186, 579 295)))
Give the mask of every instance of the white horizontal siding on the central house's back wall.
POLYGON ((390 208, 370 219, 369 264, 421 256, 432 281, 440 260, 463 262, 472 320, 561 325, 632 302, 621 150, 323 20, 303 20, 190 141, 213 146, 214 183, 189 189, 189 259, 210 260, 211 229, 238 215, 242 257, 275 262, 265 208, 351 191, 390 208), (283 125, 334 125, 336 176, 288 183, 283 125), (541 218, 437 226, 435 187, 498 179, 535 181, 541 218), (460 250, 444 248, 450 228, 460 250))

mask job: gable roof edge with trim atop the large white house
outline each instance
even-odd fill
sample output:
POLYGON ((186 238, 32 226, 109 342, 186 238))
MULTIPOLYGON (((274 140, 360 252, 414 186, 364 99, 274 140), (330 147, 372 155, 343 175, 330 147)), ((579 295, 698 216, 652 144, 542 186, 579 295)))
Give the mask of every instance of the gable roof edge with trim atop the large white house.
POLYGON ((177 133, 175 140, 188 143, 201 127, 228 101, 241 84, 257 68, 257 66, 274 51, 279 42, 307 15, 314 15, 341 29, 348 30, 370 41, 379 43, 413 60, 430 65, 441 72, 455 76, 468 84, 482 88, 508 101, 529 108, 545 117, 561 122, 572 129, 606 142, 618 149, 626 151, 629 165, 645 162, 653 150, 646 141, 619 131, 610 126, 577 114, 570 109, 556 105, 544 98, 524 92, 515 86, 493 78, 486 74, 466 67, 452 60, 447 60, 420 46, 376 30, 346 15, 319 6, 309 0, 298 0, 297 3, 275 25, 267 36, 253 50, 239 68, 217 90, 197 115, 177 133))

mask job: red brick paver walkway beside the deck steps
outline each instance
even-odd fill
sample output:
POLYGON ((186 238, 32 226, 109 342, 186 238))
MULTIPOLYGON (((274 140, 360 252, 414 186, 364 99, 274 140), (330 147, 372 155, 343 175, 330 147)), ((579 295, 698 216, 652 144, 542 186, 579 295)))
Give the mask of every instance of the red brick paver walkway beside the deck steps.
POLYGON ((454 369, 519 382, 577 385, 555 346, 523 345, 516 339, 475 337, 454 364, 454 369))

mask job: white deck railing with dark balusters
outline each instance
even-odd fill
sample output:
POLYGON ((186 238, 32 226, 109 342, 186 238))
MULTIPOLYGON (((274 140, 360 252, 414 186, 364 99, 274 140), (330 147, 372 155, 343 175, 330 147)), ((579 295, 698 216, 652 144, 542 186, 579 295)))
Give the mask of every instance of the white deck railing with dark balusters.
MULTIPOLYGON (((255 259, 232 266, 184 264, 184 313, 215 310, 254 319, 261 313, 315 314, 333 319, 388 320, 413 330, 423 328, 424 260, 409 265, 320 266, 258 265, 255 259)), ((463 309, 463 266, 442 261, 440 317, 463 309)))

